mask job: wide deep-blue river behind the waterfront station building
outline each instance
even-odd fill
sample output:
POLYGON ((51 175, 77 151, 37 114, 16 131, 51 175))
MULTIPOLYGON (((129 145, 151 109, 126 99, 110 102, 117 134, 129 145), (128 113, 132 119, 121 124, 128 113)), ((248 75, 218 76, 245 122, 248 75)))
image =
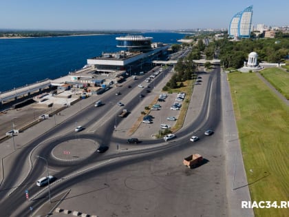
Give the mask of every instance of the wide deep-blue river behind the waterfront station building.
MULTIPOLYGON (((89 58, 120 50, 116 48, 116 37, 120 35, 0 39, 0 92, 81 69, 89 58)), ((185 36, 173 32, 142 35, 153 37, 153 42, 171 44, 185 36)))

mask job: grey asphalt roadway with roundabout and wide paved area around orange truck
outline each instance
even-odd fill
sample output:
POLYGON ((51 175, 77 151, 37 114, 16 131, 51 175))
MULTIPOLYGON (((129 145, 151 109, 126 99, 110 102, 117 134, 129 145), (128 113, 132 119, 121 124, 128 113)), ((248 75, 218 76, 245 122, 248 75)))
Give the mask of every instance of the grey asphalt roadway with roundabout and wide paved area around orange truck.
MULTIPOLYGON (((161 76, 157 77, 159 82, 166 78, 161 76)), ((157 78, 153 85, 158 84, 157 78)), ((47 205, 47 187, 39 192, 39 187, 35 185, 35 180, 45 176, 46 172, 45 162, 36 158, 41 155, 47 158, 50 174, 58 178, 51 186, 53 202, 56 202, 58 194, 70 189, 65 200, 58 205, 63 209, 97 216, 228 216, 224 130, 220 124, 220 69, 202 74, 202 85, 195 87, 200 92, 194 91, 202 97, 197 98, 193 94, 195 106, 192 105, 187 113, 184 128, 176 133, 177 138, 164 143, 147 136, 143 137, 140 145, 127 145, 127 130, 124 129, 129 129, 135 122, 133 117, 139 114, 142 102, 158 93, 158 87, 149 94, 144 93, 147 88, 136 87, 143 80, 144 77, 128 81, 118 89, 122 93, 120 97, 114 94, 114 90, 104 94, 100 97, 105 103, 102 107, 94 107, 93 101, 87 107, 78 104, 80 107, 79 110, 74 107, 74 110, 78 110, 74 116, 64 118, 65 121, 47 134, 17 150, 13 156, 17 161, 8 160, 12 161, 9 169, 13 169, 14 173, 8 173, 7 169, 8 176, 1 184, 1 214, 29 215, 29 206, 35 207, 35 212, 41 214, 42 209, 37 211, 38 207, 43 203, 47 205), (134 89, 127 88, 129 84, 134 89), (134 96, 129 95, 131 90, 134 96), (139 99, 140 92, 146 95, 144 99, 139 99), (125 107, 117 107, 118 101, 125 103, 125 107), (116 114, 123 108, 131 111, 131 114, 127 118, 118 118, 116 114), (75 125, 84 125, 85 130, 76 134, 75 125), (114 125, 117 125, 116 130, 114 125), (215 131, 213 136, 203 135, 208 128, 215 131), (189 142, 192 133, 200 136, 200 141, 189 142), (78 145, 84 148, 78 150, 77 156, 83 155, 85 158, 68 158, 69 161, 64 156, 63 161, 54 158, 54 148, 65 141, 78 141, 78 145), (94 144, 91 145, 92 141, 94 144), (89 154, 85 152, 88 143, 89 154), (110 146, 109 151, 96 154, 96 148, 103 144, 110 146), (117 149, 118 144, 120 149, 117 149), (205 161, 200 167, 188 169, 182 165, 182 159, 193 153, 202 154, 205 161), (25 158, 28 156, 28 163, 19 164, 27 162, 25 158), (29 202, 25 202, 25 189, 29 189, 32 196, 29 202), (13 193, 8 196, 9 192, 13 193), (14 207, 19 208, 15 210, 14 207)), ((165 109, 156 112, 164 112, 162 116, 170 115, 165 109)), ((140 127, 135 135, 141 137, 144 132, 146 130, 140 127)), ((67 149, 72 150, 75 146, 68 145, 67 149)), ((53 216, 63 214, 54 213, 53 216)))

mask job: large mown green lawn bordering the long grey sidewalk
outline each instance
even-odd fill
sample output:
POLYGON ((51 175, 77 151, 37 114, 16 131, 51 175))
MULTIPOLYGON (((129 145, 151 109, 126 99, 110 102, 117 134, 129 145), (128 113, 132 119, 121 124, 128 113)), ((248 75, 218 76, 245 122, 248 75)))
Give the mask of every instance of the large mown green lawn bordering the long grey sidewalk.
MULTIPOLYGON (((264 72, 272 73, 283 74, 264 72)), ((289 107, 255 73, 233 72, 228 79, 252 200, 288 201, 289 107)), ((289 209, 254 211, 261 217, 289 216, 289 209)))

